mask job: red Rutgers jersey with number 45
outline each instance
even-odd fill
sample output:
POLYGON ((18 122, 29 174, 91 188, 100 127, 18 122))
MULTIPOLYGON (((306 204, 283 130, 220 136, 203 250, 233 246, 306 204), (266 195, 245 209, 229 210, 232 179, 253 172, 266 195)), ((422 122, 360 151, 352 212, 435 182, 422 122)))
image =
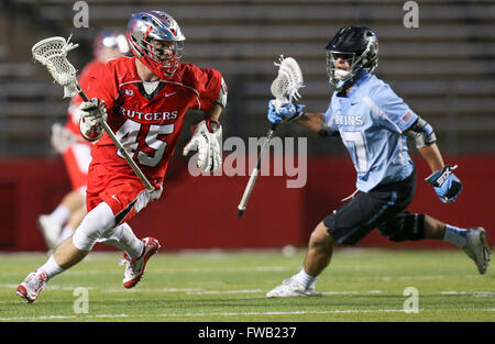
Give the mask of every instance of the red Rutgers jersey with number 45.
MULTIPOLYGON (((163 182, 186 111, 210 110, 218 99, 221 78, 218 70, 180 64, 173 78, 160 80, 148 95, 138 76, 135 57, 119 57, 90 76, 86 92, 89 98, 105 102, 107 123, 148 180, 156 185, 163 182)), ((91 165, 109 170, 106 178, 138 179, 107 133, 94 145, 91 156, 91 165)))

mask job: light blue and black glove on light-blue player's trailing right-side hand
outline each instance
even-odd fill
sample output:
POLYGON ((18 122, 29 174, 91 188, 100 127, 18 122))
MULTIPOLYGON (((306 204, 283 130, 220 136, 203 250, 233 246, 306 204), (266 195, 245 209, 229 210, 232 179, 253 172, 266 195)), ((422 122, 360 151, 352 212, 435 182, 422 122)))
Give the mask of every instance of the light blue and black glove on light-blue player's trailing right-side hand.
POLYGON ((453 203, 461 193, 462 182, 452 173, 455 168, 458 165, 446 166, 425 179, 426 182, 433 186, 435 192, 443 203, 453 203))

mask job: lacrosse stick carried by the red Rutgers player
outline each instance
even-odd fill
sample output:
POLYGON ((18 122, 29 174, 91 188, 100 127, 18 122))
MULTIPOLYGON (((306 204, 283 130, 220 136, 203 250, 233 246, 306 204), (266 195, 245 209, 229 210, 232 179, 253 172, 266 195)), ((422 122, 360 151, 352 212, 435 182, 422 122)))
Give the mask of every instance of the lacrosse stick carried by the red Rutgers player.
MULTIPOLYGON (((84 90, 81 90, 77 84, 76 69, 67 59, 67 53, 78 46, 78 44, 69 43, 69 41, 70 37, 68 37, 67 41, 64 37, 50 37, 40 41, 32 47, 33 57, 35 60, 45 66, 46 69, 48 69, 50 74, 58 85, 64 87, 64 98, 79 95, 84 101, 89 101, 88 96, 86 96, 84 90)), ((155 188, 146 179, 134 160, 129 156, 128 152, 125 152, 124 147, 116 137, 107 122, 101 121, 101 125, 113 141, 125 162, 128 162, 129 166, 131 166, 143 185, 146 187, 146 190, 148 192, 153 192, 155 188)))

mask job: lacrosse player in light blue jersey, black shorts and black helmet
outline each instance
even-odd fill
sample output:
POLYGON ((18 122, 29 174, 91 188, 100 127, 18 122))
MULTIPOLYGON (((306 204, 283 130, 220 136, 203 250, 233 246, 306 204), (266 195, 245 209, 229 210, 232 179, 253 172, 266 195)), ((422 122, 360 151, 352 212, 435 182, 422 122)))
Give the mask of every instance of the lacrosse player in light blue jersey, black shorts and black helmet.
POLYGON ((443 164, 431 125, 372 74, 378 62, 376 34, 365 26, 344 26, 326 48, 327 73, 336 86, 327 112, 306 112, 304 104, 294 103, 276 110, 271 100, 268 120, 296 122, 322 136, 340 136, 358 174, 358 190, 314 230, 301 270, 266 296, 316 295, 315 282, 329 265, 334 244, 355 245, 375 228, 394 242, 450 242, 463 248, 480 274, 485 274, 490 251, 484 229, 460 229, 406 211, 416 191, 408 137, 431 168, 426 181, 442 202, 453 202, 462 184, 452 171, 455 166, 443 164))

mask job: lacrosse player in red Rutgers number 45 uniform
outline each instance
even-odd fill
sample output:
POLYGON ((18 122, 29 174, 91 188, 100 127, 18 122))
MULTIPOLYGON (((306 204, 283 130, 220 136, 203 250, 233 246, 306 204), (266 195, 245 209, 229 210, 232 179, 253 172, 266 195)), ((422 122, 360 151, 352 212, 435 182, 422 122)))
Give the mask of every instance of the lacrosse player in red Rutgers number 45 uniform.
POLYGON ((86 89, 88 97, 95 98, 79 108, 82 136, 98 140, 88 174, 88 214, 74 236, 18 287, 16 293, 26 302, 33 302, 50 278, 80 262, 97 242, 124 251, 125 288, 139 282, 146 262, 161 246, 153 237, 139 240, 127 221, 160 198, 188 109, 204 111, 205 119, 183 153, 198 149, 198 167, 205 171, 221 167, 218 119, 227 102, 221 74, 180 62, 185 36, 165 12, 133 14, 127 38, 134 57, 119 57, 98 70, 86 89), (154 186, 153 192, 146 190, 103 133, 101 120, 154 186))

